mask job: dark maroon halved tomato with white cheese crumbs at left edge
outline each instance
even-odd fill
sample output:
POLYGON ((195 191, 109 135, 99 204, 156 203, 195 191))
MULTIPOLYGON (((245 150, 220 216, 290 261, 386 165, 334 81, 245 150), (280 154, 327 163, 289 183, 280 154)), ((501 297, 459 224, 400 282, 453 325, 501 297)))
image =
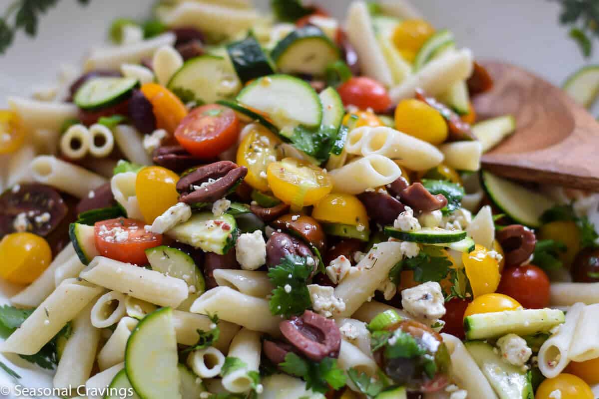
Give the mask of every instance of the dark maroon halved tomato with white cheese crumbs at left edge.
POLYGON ((43 184, 17 184, 0 196, 0 238, 14 232, 47 236, 67 212, 60 194, 43 184))

